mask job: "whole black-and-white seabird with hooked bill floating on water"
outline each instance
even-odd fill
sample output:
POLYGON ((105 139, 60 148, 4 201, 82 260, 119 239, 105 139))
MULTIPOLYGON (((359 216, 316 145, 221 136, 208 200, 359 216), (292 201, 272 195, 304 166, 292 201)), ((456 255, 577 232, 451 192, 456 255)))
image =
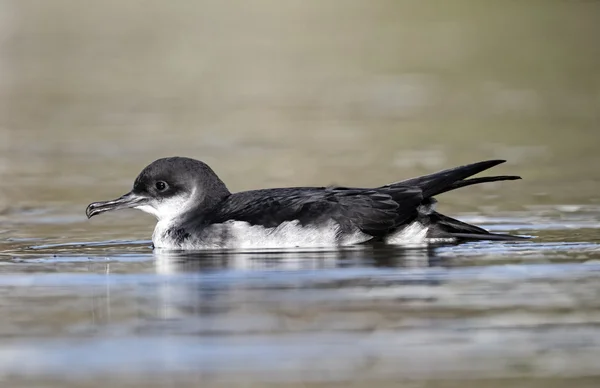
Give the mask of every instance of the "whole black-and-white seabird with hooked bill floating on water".
POLYGON ((166 157, 146 166, 127 194, 93 202, 86 215, 136 208, 157 218, 153 248, 419 246, 517 240, 435 211, 440 194, 514 175, 471 178, 505 160, 471 163, 375 188, 267 188, 231 193, 204 162, 166 157))

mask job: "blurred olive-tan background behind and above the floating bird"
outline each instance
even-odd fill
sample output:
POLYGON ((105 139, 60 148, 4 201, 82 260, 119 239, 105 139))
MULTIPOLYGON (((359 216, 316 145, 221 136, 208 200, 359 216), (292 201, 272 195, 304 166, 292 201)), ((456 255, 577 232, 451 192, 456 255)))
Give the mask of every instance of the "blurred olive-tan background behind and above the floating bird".
POLYGON ((494 173, 523 181, 444 195, 441 209, 526 215, 513 224, 576 213, 585 227, 533 234, 596 241, 598 37, 598 1, 0 0, 4 255, 148 240, 147 215, 88 222, 84 209, 172 155, 207 162, 232 191, 507 159, 494 173))

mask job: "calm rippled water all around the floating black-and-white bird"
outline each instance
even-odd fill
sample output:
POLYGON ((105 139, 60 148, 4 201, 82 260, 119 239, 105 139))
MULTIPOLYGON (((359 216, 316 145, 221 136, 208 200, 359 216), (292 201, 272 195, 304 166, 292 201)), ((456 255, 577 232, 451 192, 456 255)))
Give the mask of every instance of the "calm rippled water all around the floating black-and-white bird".
POLYGON ((0 1, 0 385, 596 387, 600 3, 0 1), (543 4, 542 4, 543 3, 543 4), (152 160, 440 197, 515 243, 152 252, 152 160))

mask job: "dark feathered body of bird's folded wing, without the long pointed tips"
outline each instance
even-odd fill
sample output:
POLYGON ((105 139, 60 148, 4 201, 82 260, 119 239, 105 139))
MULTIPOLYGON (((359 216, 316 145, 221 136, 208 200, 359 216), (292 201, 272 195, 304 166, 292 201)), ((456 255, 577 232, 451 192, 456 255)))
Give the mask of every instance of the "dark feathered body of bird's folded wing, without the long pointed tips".
POLYGON ((210 221, 235 220, 276 227, 285 221, 318 225, 333 220, 341 231, 358 228, 371 236, 381 236, 414 214, 421 200, 421 190, 410 187, 254 190, 229 196, 210 221))

